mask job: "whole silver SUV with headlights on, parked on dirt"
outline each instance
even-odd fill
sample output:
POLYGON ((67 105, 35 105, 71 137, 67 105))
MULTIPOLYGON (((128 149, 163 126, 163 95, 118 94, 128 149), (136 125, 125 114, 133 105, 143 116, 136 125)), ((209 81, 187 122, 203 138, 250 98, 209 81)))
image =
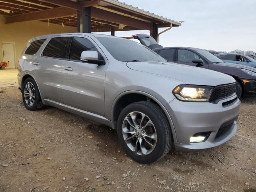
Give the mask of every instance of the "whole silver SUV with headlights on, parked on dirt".
POLYGON ((28 110, 49 105, 106 124, 141 163, 172 147, 212 148, 237 131, 234 78, 166 62, 132 40, 82 33, 32 38, 18 69, 28 110))

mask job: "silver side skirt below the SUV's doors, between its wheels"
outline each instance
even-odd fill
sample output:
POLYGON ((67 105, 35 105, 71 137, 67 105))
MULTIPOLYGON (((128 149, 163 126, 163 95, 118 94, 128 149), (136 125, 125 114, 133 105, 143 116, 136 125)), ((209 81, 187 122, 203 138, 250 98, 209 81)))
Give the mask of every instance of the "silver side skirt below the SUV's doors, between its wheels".
POLYGON ((97 115, 97 114, 94 114, 94 113, 91 113, 91 112, 88 112, 88 111, 77 109, 77 108, 74 108, 74 107, 71 107, 71 106, 68 106, 68 105, 50 100, 50 99, 42 99, 42 102, 45 105, 53 106, 53 107, 59 108, 61 110, 79 115, 79 116, 84 117, 86 119, 89 119, 89 120, 92 120, 92 121, 95 121, 95 122, 99 122, 101 124, 110 126, 113 129, 115 128, 114 122, 106 119, 105 117, 103 117, 101 115, 97 115))

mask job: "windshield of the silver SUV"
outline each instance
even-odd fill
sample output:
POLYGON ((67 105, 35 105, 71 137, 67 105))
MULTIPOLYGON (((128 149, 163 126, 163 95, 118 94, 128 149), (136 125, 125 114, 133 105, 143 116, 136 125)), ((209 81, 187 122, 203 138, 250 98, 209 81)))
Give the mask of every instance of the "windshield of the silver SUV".
POLYGON ((95 36, 118 61, 166 61, 164 58, 137 42, 114 37, 95 36))

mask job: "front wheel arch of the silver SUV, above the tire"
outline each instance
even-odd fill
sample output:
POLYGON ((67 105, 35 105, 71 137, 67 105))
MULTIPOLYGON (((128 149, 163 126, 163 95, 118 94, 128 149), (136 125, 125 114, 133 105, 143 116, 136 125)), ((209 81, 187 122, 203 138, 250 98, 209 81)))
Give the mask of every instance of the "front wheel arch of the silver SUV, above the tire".
POLYGON ((172 118, 169 115, 168 111, 166 110, 165 106, 157 98, 155 98, 151 94, 148 94, 148 93, 142 92, 142 91, 138 91, 138 90, 130 90, 130 91, 122 92, 114 100, 114 102, 112 104, 112 108, 111 108, 111 119, 114 121, 115 128, 116 128, 116 122, 117 122, 117 119, 118 119, 118 116, 119 116, 118 114, 120 114, 120 112, 122 111, 122 107, 125 107, 128 104, 131 104, 131 103, 134 103, 134 102, 139 102, 139 101, 153 102, 153 103, 157 104, 162 109, 162 111, 166 115, 166 117, 168 119, 168 122, 169 122, 169 125, 171 127, 174 142, 176 142, 177 138, 176 138, 176 132, 175 132, 174 124, 173 124, 172 118), (120 103, 120 102, 122 102, 122 100, 124 98, 127 98, 129 96, 136 96, 137 98, 135 100, 132 100, 133 102, 128 102, 128 103, 122 105, 122 103, 120 103), (120 106, 121 106, 121 108, 120 108, 120 106))

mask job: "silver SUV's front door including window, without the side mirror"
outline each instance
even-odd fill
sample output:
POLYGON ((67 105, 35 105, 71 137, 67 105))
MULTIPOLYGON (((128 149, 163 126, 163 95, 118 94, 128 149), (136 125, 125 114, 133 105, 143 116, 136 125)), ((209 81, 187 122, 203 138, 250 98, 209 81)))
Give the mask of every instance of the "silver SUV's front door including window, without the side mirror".
POLYGON ((107 64, 81 62, 81 53, 86 50, 98 51, 99 59, 106 61, 92 39, 84 36, 73 37, 68 58, 63 64, 63 103, 103 115, 107 64))

